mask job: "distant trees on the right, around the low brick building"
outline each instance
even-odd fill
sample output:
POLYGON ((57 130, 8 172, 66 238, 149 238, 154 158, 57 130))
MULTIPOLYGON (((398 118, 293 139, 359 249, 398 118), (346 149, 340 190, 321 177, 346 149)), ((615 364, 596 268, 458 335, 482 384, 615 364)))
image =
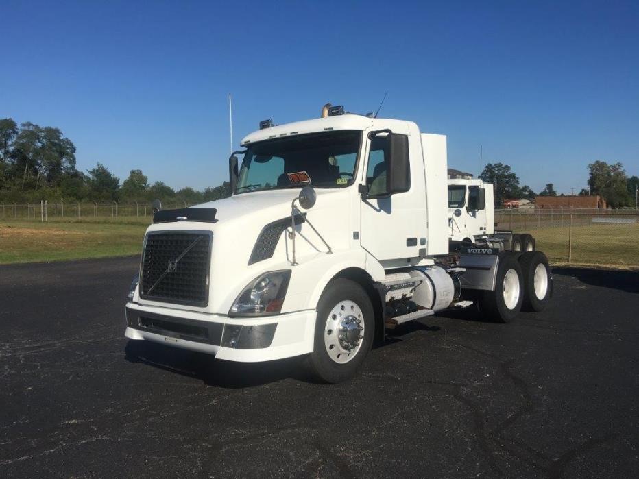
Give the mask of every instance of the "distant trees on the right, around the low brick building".
MULTIPOLYGON (((479 175, 481 180, 492 183, 495 192, 495 204, 501 206, 508 199, 535 199, 537 196, 557 196, 555 185, 546 184, 538 194, 527 185, 519 186, 518 176, 511 167, 503 163, 488 163, 479 175)), ((597 160, 588 164, 588 189, 583 188, 579 195, 599 195, 610 208, 634 206, 639 178, 628 177, 623 164, 608 164, 597 160)), ((564 196, 563 194, 561 196, 564 196)))

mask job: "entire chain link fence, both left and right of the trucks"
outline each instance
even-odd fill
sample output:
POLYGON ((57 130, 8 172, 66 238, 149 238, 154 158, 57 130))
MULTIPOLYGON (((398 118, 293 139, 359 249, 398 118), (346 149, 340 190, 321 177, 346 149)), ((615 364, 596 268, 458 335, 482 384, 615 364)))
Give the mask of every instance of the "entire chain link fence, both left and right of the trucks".
MULTIPOLYGON (((165 209, 190 206, 163 204, 165 209)), ((4 221, 93 221, 140 223, 152 221, 149 203, 0 204, 4 221)), ((537 249, 551 262, 581 265, 639 267, 639 211, 637 210, 498 210, 498 230, 532 234, 537 249)))

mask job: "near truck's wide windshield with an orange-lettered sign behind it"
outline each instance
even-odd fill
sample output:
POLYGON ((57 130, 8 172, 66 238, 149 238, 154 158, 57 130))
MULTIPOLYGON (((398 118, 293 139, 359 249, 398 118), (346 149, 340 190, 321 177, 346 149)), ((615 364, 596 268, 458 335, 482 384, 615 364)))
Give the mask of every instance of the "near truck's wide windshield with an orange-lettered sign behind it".
POLYGON ((342 188, 353 181, 359 131, 288 136, 249 145, 235 193, 294 188, 342 188))

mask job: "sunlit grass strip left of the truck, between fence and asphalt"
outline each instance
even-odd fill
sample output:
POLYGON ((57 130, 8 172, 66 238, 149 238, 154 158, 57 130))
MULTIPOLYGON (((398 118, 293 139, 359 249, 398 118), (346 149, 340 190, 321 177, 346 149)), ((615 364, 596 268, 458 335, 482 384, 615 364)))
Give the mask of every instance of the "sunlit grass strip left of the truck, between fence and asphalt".
POLYGON ((0 221, 0 264, 140 254, 146 224, 0 221))

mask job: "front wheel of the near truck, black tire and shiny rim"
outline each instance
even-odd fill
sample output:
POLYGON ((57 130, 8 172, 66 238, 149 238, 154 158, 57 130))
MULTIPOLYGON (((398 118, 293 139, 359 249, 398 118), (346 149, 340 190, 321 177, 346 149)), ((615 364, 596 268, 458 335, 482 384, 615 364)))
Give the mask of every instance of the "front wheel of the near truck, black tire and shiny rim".
POLYGON ((324 382, 352 378, 372 347, 374 330, 373 306, 364 288, 344 278, 331 281, 317 304, 311 371, 324 382))

